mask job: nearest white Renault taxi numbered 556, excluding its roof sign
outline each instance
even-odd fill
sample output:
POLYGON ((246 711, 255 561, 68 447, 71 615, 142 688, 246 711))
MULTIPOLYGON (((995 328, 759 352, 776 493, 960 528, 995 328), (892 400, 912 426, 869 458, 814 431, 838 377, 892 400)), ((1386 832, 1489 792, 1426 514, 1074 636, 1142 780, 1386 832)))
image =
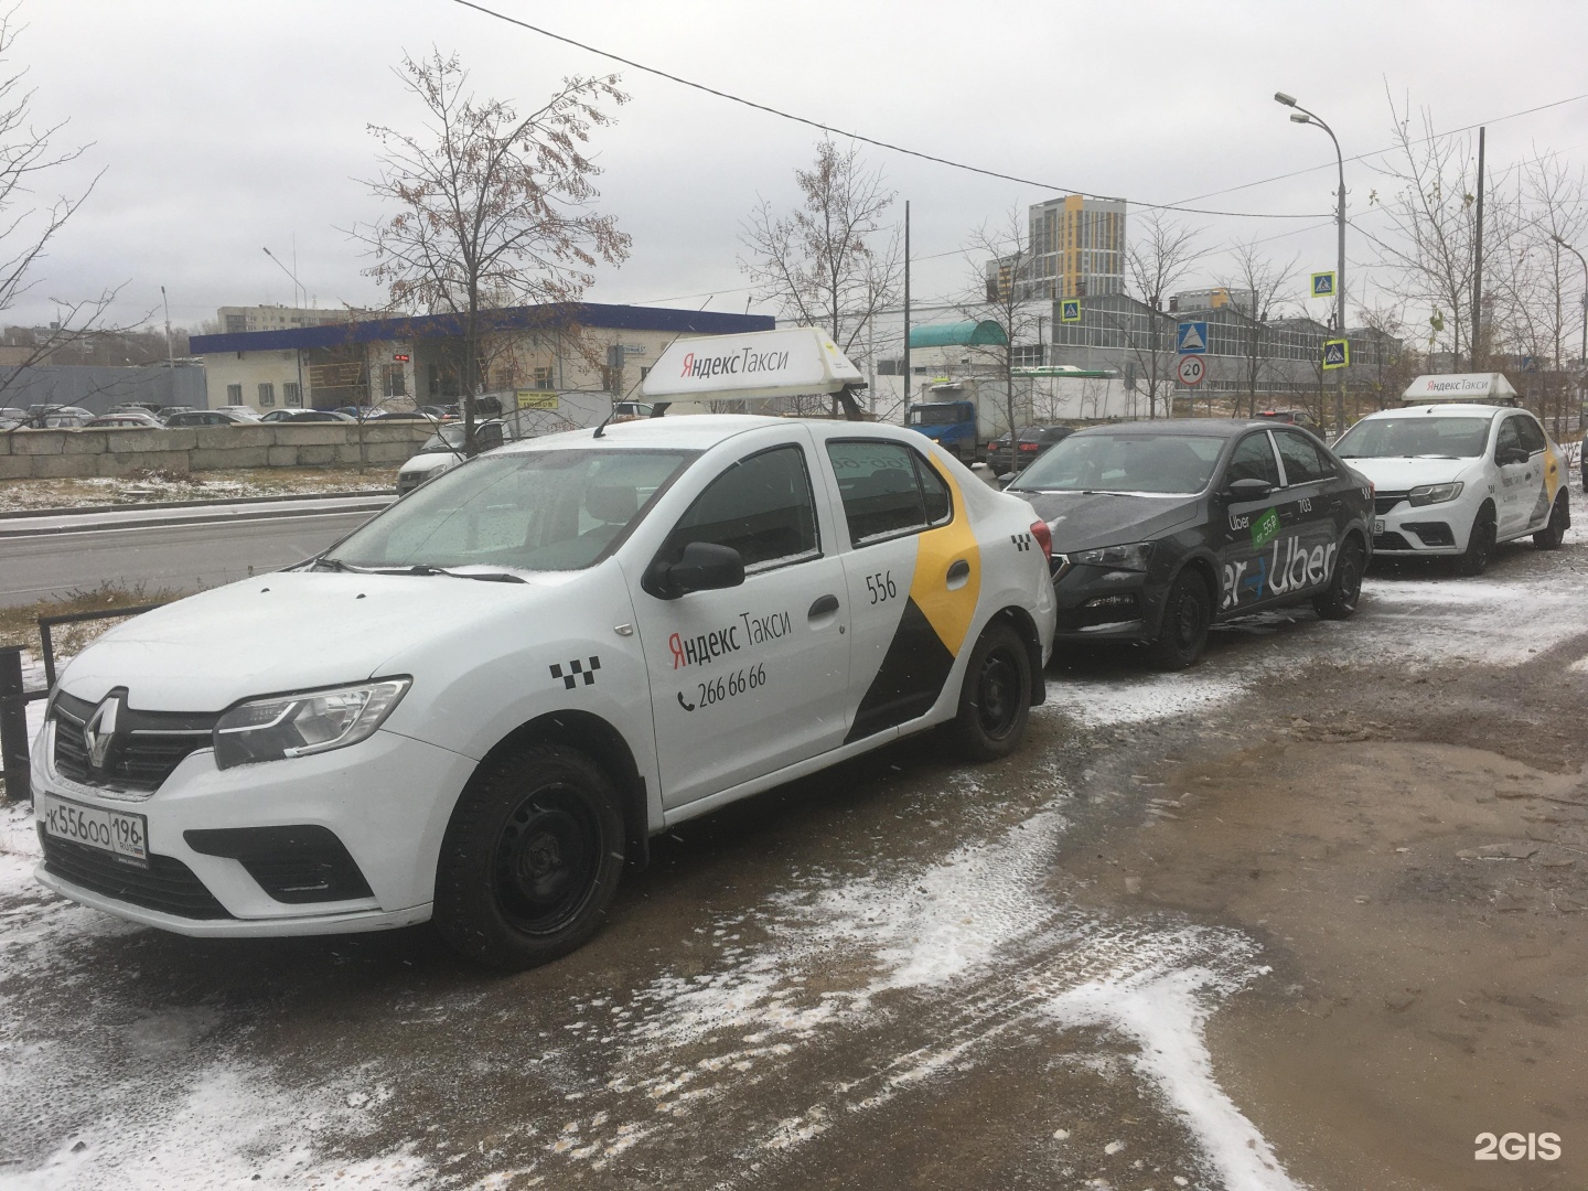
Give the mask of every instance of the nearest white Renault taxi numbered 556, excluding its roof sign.
POLYGON ((191 935, 434 918, 527 967, 681 819, 935 724, 1007 754, 1051 640, 1046 527, 904 429, 510 443, 78 654, 38 877, 191 935))

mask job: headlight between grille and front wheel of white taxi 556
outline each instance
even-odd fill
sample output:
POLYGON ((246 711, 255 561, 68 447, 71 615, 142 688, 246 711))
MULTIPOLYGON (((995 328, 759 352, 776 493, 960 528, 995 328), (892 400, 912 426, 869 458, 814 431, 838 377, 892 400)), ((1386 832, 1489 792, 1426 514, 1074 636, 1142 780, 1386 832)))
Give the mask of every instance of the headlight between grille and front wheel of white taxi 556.
POLYGON ((356 745, 381 726, 410 686, 411 678, 383 678, 238 703, 214 726, 214 764, 230 769, 356 745))

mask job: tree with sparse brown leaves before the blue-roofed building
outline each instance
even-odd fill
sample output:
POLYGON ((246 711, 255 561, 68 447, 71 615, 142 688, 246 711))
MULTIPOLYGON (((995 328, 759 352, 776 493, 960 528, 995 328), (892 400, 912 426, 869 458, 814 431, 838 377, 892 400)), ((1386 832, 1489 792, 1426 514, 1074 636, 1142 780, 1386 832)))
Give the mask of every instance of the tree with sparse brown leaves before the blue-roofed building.
POLYGON ((627 95, 616 75, 573 76, 519 116, 503 100, 475 98, 457 56, 434 49, 422 60, 405 56, 397 76, 427 122, 418 133, 370 125, 380 173, 368 186, 397 210, 353 235, 375 257, 365 273, 387 286, 392 306, 459 318, 472 454, 481 341, 494 329, 486 311, 575 302, 599 262, 629 254, 616 219, 594 210, 600 168, 584 151, 591 132, 611 122, 602 105, 627 95))

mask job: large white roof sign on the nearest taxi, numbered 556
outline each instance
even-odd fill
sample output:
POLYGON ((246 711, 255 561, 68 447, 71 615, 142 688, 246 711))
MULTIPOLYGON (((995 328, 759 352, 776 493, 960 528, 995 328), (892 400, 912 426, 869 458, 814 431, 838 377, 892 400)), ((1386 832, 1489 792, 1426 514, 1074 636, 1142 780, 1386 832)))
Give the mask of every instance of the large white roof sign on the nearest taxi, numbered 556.
POLYGON ((640 381, 646 400, 754 400, 864 387, 861 370, 819 327, 676 340, 640 381))

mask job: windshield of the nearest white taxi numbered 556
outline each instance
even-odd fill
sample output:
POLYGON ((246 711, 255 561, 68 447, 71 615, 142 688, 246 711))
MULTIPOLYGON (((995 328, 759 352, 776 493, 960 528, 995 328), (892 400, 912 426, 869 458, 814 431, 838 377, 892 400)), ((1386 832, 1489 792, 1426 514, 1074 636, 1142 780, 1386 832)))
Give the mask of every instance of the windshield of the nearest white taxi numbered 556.
POLYGON ((399 500, 326 561, 368 570, 583 570, 694 457, 632 449, 481 456, 399 500))

